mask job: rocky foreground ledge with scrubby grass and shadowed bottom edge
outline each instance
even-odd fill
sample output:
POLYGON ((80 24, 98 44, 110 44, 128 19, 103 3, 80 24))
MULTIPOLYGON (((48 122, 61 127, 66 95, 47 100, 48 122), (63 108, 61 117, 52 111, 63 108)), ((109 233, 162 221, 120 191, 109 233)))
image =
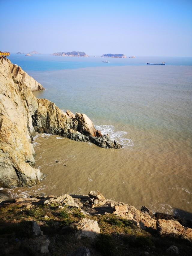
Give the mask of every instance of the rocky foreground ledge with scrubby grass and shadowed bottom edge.
POLYGON ((0 204, 1 255, 192 255, 192 223, 88 195, 34 195, 0 204))

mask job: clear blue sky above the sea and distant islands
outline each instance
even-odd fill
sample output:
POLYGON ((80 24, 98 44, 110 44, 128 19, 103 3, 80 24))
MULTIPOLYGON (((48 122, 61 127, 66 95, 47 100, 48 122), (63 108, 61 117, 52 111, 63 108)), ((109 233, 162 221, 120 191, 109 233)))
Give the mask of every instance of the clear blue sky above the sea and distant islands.
POLYGON ((192 0, 0 0, 0 50, 192 56, 192 0))

